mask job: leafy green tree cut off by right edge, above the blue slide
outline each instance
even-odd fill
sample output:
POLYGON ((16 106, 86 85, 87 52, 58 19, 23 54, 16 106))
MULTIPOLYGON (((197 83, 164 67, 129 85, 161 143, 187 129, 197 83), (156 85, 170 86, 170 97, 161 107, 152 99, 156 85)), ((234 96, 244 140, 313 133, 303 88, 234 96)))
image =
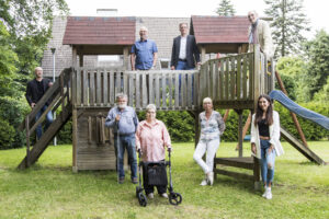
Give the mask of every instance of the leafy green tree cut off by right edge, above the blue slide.
POLYGON ((309 59, 307 80, 313 96, 328 82, 329 34, 324 30, 319 31, 315 39, 306 43, 306 54, 309 59))

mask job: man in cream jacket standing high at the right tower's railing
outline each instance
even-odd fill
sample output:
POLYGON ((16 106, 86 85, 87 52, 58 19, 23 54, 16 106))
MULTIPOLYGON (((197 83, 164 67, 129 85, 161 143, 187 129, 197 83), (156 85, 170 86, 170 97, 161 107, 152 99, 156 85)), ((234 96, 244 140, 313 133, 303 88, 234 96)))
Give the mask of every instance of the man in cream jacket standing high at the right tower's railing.
POLYGON ((248 12, 249 26, 249 50, 253 51, 253 45, 259 44, 261 51, 271 59, 274 55, 274 45, 268 22, 260 20, 256 11, 248 12))

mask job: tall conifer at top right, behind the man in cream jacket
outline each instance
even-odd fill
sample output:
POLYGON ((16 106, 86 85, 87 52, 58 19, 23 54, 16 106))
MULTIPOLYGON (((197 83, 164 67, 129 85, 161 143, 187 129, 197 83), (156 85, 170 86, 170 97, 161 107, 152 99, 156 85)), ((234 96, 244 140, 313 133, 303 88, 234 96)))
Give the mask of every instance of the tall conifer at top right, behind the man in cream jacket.
POLYGON ((303 0, 264 0, 269 5, 265 14, 271 22, 273 41, 277 45, 275 57, 298 54, 306 41, 303 32, 309 31, 308 20, 303 12, 303 0))

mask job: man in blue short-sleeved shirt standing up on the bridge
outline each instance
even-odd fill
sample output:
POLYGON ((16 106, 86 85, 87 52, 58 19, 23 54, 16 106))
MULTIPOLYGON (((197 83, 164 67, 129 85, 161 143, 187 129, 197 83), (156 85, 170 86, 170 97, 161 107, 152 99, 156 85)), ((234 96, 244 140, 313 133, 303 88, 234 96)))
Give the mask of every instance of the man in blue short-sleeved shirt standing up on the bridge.
POLYGON ((154 69, 157 64, 158 48, 157 44, 147 38, 148 30, 140 27, 140 39, 136 41, 132 47, 132 70, 149 70, 154 69))

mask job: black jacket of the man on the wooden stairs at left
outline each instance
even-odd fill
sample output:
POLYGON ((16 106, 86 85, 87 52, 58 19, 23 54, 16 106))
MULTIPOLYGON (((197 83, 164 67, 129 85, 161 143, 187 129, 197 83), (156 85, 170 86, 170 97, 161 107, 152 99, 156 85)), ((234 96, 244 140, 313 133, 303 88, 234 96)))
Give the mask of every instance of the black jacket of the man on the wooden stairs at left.
MULTIPOLYGON (((44 94, 46 93, 46 91, 49 88, 49 85, 48 85, 49 82, 52 82, 49 79, 43 79, 42 80, 43 88, 44 88, 44 94)), ((31 103, 37 103, 43 97, 43 95, 41 95, 39 92, 38 92, 36 79, 33 79, 32 81, 29 81, 27 87, 26 87, 25 97, 26 97, 30 105, 31 105, 31 103)), ((46 102, 46 104, 49 105, 50 102, 52 102, 52 99, 49 99, 46 102)))

